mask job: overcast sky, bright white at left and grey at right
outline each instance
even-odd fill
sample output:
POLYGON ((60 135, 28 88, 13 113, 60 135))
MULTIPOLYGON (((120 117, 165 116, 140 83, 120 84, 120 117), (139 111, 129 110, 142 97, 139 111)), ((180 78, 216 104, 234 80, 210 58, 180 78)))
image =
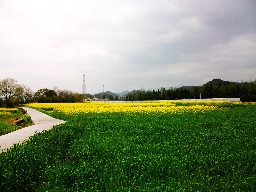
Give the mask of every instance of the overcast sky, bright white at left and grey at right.
POLYGON ((34 92, 255 81, 255 0, 0 0, 0 80, 34 92))

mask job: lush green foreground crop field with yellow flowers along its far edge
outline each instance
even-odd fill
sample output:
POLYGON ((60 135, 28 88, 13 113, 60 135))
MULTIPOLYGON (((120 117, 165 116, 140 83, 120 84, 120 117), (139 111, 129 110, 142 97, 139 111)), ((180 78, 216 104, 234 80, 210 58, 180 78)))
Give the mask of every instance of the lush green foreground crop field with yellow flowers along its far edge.
POLYGON ((255 191, 256 107, 237 105, 126 112, 51 107, 44 112, 68 122, 1 153, 1 189, 255 191))

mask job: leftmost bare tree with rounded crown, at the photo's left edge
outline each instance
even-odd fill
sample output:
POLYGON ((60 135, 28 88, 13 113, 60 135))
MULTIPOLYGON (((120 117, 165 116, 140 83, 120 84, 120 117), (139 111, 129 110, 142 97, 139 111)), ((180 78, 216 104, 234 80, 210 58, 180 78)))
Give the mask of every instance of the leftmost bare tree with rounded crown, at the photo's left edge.
POLYGON ((6 78, 0 81, 0 99, 8 107, 8 102, 11 97, 16 94, 18 81, 13 78, 6 78))

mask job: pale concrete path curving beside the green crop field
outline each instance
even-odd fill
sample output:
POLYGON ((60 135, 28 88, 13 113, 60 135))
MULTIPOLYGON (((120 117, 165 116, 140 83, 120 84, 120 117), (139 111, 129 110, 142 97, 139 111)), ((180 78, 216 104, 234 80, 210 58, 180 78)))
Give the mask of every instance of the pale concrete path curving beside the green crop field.
POLYGON ((23 109, 30 115, 34 125, 0 136, 0 151, 6 151, 14 143, 29 139, 29 136, 34 135, 36 131, 42 132, 43 130, 49 130, 53 125, 67 122, 50 117, 30 107, 23 107, 23 109))

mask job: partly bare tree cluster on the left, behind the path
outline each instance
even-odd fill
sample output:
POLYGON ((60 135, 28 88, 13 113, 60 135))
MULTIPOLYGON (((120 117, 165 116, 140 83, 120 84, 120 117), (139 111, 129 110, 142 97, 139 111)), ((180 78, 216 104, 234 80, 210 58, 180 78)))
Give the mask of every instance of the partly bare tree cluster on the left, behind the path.
POLYGON ((53 89, 39 89, 33 92, 30 87, 18 84, 13 78, 6 78, 0 81, 0 107, 16 106, 25 103, 61 103, 61 102, 82 102, 85 96, 74 93, 70 90, 61 90, 58 87, 53 89))

